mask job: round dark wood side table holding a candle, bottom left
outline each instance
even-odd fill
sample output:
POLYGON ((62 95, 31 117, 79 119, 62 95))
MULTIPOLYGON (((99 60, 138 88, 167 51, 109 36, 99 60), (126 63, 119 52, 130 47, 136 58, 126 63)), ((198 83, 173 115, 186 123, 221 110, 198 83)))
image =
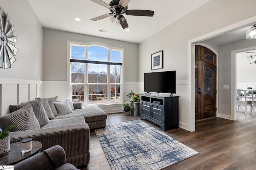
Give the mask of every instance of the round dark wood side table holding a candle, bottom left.
POLYGON ((30 156, 37 154, 42 148, 38 141, 32 141, 32 150, 26 153, 21 152, 21 142, 11 143, 9 152, 0 155, 0 165, 14 165, 30 156))

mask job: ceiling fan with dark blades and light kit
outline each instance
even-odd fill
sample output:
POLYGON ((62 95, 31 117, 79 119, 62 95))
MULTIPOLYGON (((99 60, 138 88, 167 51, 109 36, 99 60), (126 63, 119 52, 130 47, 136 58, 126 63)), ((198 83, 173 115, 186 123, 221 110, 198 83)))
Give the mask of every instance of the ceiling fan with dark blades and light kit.
POLYGON ((150 10, 128 10, 128 4, 130 0, 112 0, 109 4, 106 4, 105 2, 101 0, 91 0, 101 6, 104 6, 110 10, 109 14, 105 14, 102 16, 98 16, 96 18, 92 18, 92 21, 98 21, 104 18, 110 17, 110 21, 114 22, 116 20, 116 23, 118 25, 121 25, 122 28, 127 28, 128 23, 126 21, 126 18, 122 14, 130 15, 130 16, 150 16, 152 17, 154 15, 154 11, 150 10))

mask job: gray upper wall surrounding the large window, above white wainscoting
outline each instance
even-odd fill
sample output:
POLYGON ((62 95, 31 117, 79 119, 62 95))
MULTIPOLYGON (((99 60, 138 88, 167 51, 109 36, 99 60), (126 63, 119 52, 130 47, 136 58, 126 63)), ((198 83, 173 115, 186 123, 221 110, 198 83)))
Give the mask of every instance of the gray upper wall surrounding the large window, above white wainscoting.
MULTIPOLYGON (((99 42, 116 47, 117 40, 44 28, 44 81, 66 81, 67 41, 99 42)), ((122 41, 124 48, 124 81, 138 82, 138 44, 122 41)))

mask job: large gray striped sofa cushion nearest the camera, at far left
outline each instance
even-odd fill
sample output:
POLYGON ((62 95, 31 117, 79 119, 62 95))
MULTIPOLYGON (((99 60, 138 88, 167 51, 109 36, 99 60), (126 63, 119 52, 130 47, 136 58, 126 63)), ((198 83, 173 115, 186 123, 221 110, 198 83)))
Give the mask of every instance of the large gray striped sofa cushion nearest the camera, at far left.
POLYGON ((10 129, 10 132, 40 129, 40 124, 34 115, 31 104, 12 113, 0 116, 0 125, 2 129, 6 129, 6 127, 15 124, 18 124, 18 126, 10 129))

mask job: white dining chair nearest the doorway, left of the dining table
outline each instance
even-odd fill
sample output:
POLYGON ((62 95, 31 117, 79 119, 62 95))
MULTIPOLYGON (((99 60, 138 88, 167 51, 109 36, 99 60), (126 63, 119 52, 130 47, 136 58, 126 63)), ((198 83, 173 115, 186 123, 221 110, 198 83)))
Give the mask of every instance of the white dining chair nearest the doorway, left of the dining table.
MULTIPOLYGON (((237 111, 239 107, 242 109, 241 106, 244 106, 244 114, 246 115, 247 112, 247 106, 250 106, 250 110, 252 111, 252 101, 247 101, 246 99, 246 91, 242 89, 236 89, 236 106, 237 111)), ((256 102, 256 99, 255 99, 256 102)))

